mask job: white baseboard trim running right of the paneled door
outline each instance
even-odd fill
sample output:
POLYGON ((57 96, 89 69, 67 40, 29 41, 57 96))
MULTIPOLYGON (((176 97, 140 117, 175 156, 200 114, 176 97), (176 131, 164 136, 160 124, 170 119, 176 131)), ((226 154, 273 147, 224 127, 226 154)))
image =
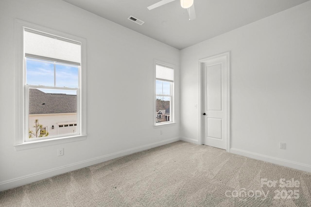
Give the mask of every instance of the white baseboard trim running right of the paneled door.
POLYGON ((307 164, 293 162, 293 161, 286 160, 286 159, 279 159, 279 158, 266 156, 266 155, 262 155, 262 154, 258 154, 254 152, 245 151, 242 149, 236 149, 236 148, 230 148, 230 153, 242 155, 248 158, 259 159, 262 161, 266 161, 266 162, 274 163, 277 165, 282 165, 285 167, 290 167, 296 170, 302 170, 302 171, 311 173, 311 165, 307 165, 307 164))

